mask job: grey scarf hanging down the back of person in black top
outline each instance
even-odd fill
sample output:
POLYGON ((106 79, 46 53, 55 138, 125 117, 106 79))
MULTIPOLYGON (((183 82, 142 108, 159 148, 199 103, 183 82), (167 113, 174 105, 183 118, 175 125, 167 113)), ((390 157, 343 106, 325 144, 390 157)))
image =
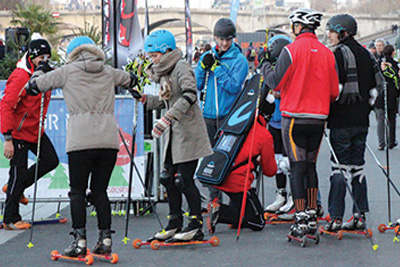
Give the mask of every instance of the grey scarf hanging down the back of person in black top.
POLYGON ((337 49, 340 49, 343 55, 344 71, 346 72, 346 80, 343 85, 343 91, 340 95, 338 103, 340 105, 352 105, 363 100, 358 88, 358 75, 356 68, 356 59, 353 52, 346 45, 339 44, 337 49))

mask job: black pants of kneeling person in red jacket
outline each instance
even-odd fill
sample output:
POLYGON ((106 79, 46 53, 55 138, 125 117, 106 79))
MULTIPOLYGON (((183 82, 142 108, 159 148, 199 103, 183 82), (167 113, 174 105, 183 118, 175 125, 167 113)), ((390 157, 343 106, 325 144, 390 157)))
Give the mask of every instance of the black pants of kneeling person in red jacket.
MULTIPOLYGON (((229 205, 221 204, 217 222, 232 224, 237 227, 239 225, 239 216, 242 208, 243 192, 225 192, 225 194, 229 196, 229 205)), ((246 210, 242 221, 242 227, 247 227, 254 231, 260 231, 264 226, 264 211, 260 200, 256 195, 256 190, 252 188, 247 191, 246 210)))

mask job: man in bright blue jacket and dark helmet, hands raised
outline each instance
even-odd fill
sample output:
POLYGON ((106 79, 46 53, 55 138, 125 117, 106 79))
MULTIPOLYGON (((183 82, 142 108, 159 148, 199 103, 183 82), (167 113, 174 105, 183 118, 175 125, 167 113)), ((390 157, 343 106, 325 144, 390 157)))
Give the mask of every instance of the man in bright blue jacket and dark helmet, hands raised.
MULTIPOLYGON (((211 146, 217 141, 215 135, 239 95, 249 69, 242 49, 233 42, 236 27, 232 20, 219 19, 214 26, 214 37, 217 45, 201 56, 195 70, 211 146)), ((211 190, 215 191, 210 193, 211 199, 218 197, 218 191, 211 190)))

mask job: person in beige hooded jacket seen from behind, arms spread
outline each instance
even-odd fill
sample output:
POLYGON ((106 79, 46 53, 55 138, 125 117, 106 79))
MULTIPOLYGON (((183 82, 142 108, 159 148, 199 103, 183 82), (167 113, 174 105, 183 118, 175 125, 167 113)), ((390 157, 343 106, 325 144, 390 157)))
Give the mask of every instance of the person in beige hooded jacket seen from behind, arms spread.
MULTIPOLYGON (((70 113, 66 151, 74 240, 64 254, 69 257, 86 255, 86 190, 91 177, 90 201, 96 207, 99 230, 98 241, 91 252, 107 255, 112 248, 107 187, 119 150, 114 88, 133 88, 137 77, 106 65, 104 52, 86 36, 69 42, 67 56, 68 64, 61 68, 46 74, 36 71, 26 92, 37 95, 61 88, 70 113)), ((49 66, 44 64, 44 68, 49 66)))

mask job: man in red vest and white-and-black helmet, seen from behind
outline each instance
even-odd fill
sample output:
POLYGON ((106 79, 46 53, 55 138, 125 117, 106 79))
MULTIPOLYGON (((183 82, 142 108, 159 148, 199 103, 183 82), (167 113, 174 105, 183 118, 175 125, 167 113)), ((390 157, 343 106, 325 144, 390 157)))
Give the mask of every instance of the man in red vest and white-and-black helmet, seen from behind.
POLYGON ((289 20, 296 40, 282 50, 274 69, 268 61, 262 68, 267 85, 281 92, 282 138, 296 209, 290 234, 299 237, 318 228, 316 161, 330 102, 339 94, 335 57, 315 35, 321 17, 311 9, 294 11, 289 20))

